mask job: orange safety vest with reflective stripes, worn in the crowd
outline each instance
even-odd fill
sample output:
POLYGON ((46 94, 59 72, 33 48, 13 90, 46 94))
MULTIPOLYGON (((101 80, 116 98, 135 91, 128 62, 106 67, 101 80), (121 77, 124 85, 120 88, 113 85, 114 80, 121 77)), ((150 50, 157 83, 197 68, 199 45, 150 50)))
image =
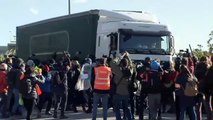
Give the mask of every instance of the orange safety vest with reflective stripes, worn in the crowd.
POLYGON ((112 74, 111 68, 100 66, 95 68, 95 83, 96 90, 110 90, 110 76, 112 74))

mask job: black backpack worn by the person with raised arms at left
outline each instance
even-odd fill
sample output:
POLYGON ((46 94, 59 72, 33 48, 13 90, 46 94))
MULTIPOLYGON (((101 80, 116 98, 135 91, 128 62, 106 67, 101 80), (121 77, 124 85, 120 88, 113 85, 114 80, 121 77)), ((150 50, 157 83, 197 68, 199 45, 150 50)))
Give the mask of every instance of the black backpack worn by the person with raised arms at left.
POLYGON ((28 95, 32 92, 32 81, 30 78, 24 78, 19 81, 19 91, 22 95, 28 95))

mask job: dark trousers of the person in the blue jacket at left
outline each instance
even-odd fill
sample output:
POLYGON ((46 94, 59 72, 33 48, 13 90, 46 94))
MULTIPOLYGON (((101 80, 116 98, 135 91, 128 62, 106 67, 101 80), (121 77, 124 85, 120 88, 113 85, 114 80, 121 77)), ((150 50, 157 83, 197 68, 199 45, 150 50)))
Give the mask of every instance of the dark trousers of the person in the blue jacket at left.
POLYGON ((43 92, 39 96, 38 110, 41 112, 44 104, 47 102, 46 113, 50 111, 52 105, 52 93, 43 92))

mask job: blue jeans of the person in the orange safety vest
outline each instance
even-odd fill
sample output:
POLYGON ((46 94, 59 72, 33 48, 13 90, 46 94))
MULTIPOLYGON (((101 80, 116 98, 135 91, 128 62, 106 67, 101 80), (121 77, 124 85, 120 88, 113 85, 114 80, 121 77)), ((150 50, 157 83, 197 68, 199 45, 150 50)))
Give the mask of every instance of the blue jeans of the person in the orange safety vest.
POLYGON ((108 98, 109 98, 109 94, 93 93, 92 120, 96 120, 97 108, 98 108, 98 103, 100 99, 102 99, 102 105, 103 105, 103 114, 102 114, 103 120, 107 120, 108 98))

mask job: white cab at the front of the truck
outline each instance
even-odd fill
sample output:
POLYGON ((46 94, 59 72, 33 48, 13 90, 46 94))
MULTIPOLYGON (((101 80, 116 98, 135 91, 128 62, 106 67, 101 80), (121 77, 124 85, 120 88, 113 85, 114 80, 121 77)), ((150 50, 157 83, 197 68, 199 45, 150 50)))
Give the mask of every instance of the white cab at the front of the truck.
POLYGON ((133 61, 171 61, 174 55, 169 28, 146 12, 101 10, 96 38, 96 57, 127 51, 133 61))

